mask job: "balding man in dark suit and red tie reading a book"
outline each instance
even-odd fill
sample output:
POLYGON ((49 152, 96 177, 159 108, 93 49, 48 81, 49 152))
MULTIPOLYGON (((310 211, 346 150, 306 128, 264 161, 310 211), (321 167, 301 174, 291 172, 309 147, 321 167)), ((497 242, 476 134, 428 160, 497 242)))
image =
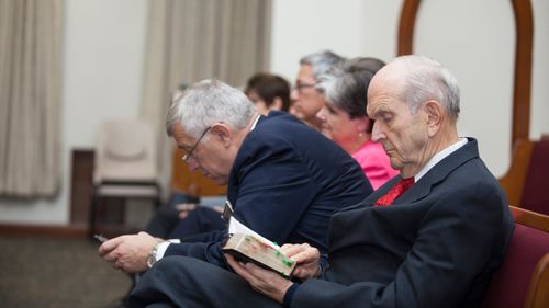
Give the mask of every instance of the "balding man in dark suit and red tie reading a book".
POLYGON ((401 176, 333 216, 327 262, 284 246, 290 281, 231 255, 236 274, 168 258, 130 307, 478 307, 513 219, 477 141, 458 137, 455 78, 426 57, 396 58, 373 77, 367 110, 401 176))

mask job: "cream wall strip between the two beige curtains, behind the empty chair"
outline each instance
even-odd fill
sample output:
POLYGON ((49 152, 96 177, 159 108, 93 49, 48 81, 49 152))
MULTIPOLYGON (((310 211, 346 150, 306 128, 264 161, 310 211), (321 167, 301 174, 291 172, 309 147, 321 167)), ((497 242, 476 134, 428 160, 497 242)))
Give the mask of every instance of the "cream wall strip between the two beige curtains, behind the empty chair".
POLYGON ((54 199, 0 201, 0 223, 65 225, 70 151, 90 148, 99 122, 137 116, 146 0, 68 0, 65 8, 63 179, 54 199))

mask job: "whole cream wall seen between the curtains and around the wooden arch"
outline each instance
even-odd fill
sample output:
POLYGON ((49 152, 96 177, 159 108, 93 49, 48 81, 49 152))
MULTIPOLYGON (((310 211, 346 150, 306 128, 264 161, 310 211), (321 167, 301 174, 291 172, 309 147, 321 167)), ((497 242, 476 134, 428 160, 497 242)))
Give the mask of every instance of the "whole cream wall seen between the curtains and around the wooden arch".
MULTIPOLYGON (((69 219, 70 151, 93 145, 97 124, 136 116, 145 46, 145 0, 66 1, 63 186, 52 201, 0 201, 0 223, 69 219)), ((290 80, 305 54, 390 60, 402 0, 274 0, 271 68, 290 80)), ((531 138, 549 133, 549 2, 533 0, 536 34, 531 138)), ((489 168, 508 163, 514 25, 509 1, 424 0, 416 52, 447 65, 462 88, 460 130, 475 136, 489 168), (473 10, 469 9, 474 7, 473 10)))

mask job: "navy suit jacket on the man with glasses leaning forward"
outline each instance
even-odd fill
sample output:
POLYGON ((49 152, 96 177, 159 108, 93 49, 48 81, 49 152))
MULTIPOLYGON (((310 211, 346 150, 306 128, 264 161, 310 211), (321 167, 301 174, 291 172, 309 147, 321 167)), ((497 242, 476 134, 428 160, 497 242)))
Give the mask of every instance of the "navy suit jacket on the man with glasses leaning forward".
MULTIPOLYGON (((261 117, 231 170, 227 198, 235 218, 278 243, 307 242, 327 251, 329 217, 370 195, 360 166, 335 142, 291 115, 261 117)), ((226 230, 170 244, 166 255, 224 265, 226 230), (199 240, 200 242, 195 242, 199 240)))

